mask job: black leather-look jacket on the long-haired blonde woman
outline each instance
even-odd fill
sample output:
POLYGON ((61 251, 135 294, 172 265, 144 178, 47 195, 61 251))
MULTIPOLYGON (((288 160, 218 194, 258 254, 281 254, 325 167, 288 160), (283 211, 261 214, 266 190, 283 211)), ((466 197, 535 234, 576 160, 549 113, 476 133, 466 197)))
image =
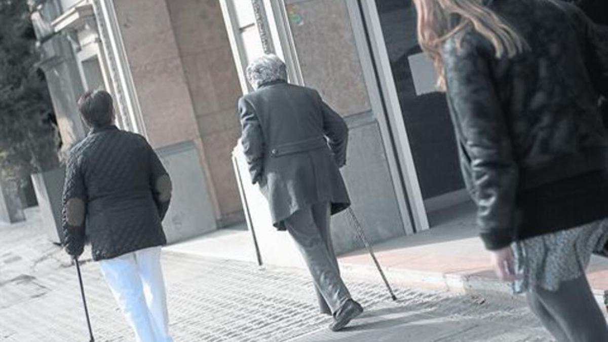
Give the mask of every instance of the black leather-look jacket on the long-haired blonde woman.
POLYGON ((486 248, 496 250, 606 217, 606 203, 592 200, 580 206, 593 207, 589 215, 560 208, 568 209, 562 204, 576 191, 565 180, 593 179, 597 189, 608 184, 608 141, 598 108, 599 95, 608 95, 608 31, 565 2, 488 5, 530 49, 496 58, 491 44, 469 28, 446 41, 443 58, 465 183, 486 248), (564 200, 544 208, 552 198, 564 200))

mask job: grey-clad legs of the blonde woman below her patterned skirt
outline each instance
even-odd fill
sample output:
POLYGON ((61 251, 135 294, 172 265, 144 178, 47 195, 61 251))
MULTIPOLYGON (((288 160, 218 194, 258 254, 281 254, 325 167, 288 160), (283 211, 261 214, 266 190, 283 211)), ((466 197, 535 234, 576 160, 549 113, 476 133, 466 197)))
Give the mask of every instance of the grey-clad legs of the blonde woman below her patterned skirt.
POLYGON ((585 276, 562 282, 558 291, 533 288, 530 308, 558 342, 608 341, 608 326, 585 276))

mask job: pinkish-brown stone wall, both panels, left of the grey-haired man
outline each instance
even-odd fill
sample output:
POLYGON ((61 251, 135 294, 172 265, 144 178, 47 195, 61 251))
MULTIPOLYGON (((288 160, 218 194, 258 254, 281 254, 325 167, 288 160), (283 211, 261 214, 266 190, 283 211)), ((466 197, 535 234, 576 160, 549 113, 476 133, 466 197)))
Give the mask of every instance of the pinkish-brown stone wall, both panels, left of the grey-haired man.
POLYGON ((230 164, 240 134, 240 86, 219 4, 130 0, 114 6, 151 144, 194 142, 218 225, 241 221, 230 164))

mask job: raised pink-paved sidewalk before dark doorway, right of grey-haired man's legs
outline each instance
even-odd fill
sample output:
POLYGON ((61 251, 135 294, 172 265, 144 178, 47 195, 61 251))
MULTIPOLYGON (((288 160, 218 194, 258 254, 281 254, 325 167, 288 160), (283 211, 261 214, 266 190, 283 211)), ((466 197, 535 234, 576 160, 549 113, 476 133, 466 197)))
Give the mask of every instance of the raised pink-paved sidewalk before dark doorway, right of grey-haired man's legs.
MULTIPOLYGON (((510 285, 500 282, 489 267, 488 252, 477 236, 474 212, 446 212, 438 220, 429 231, 374 246, 387 277, 414 288, 510 295, 510 285)), ((377 272, 367 251, 342 256, 340 264, 353 273, 377 272)), ((587 277, 606 311, 608 258, 593 256, 587 277)))

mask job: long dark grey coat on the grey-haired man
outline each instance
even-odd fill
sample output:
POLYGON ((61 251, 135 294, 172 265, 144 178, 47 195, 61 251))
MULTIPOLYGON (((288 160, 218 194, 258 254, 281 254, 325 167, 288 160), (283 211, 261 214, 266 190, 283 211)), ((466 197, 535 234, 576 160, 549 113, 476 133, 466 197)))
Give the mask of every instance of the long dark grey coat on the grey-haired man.
POLYGON ((336 214, 350 206, 339 167, 346 163, 348 127, 314 89, 278 81, 238 101, 241 142, 253 183, 270 206, 272 223, 323 201, 336 214))

